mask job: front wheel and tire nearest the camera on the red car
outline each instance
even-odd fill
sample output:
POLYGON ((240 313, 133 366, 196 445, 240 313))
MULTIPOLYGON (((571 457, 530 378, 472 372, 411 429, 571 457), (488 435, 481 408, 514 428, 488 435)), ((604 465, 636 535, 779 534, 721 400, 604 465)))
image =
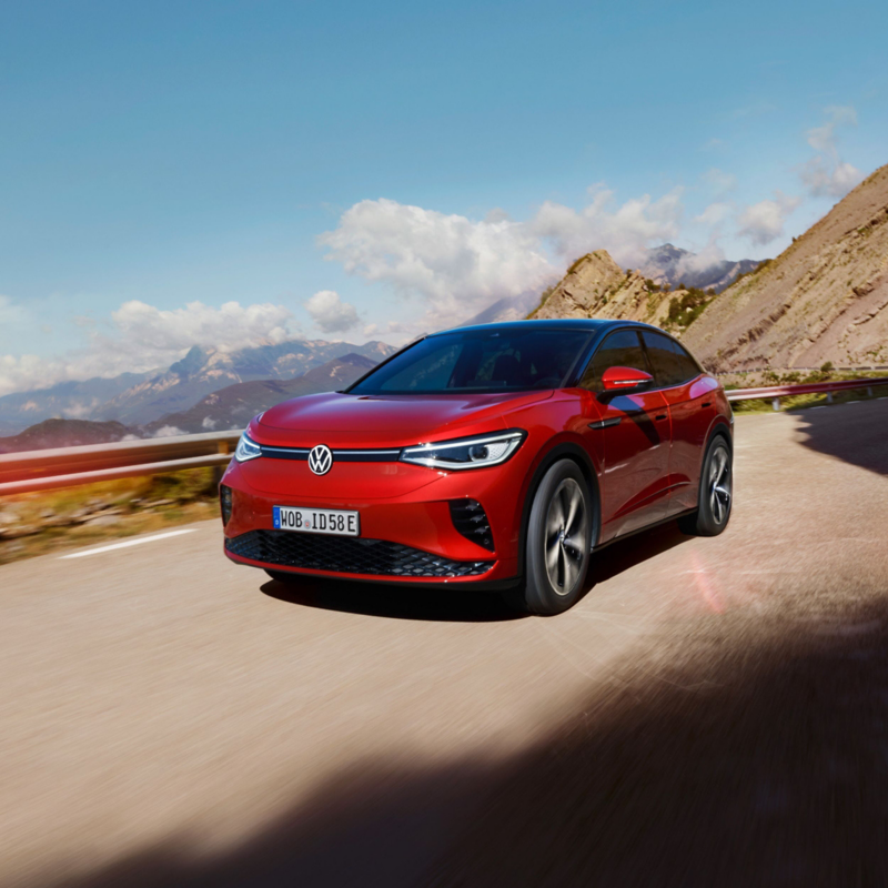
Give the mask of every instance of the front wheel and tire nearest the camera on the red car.
POLYGON ((583 594, 589 568, 593 502, 576 463, 561 460, 536 488, 527 522, 524 585, 518 604, 532 614, 561 614, 583 594))

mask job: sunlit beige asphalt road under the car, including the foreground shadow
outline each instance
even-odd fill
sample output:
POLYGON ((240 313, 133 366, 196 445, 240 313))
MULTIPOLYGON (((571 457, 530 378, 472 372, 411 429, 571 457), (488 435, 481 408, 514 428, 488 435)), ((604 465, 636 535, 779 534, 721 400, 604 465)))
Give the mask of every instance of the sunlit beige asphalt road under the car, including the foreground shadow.
POLYGON ((548 619, 214 523, 0 568, 0 884, 888 884, 888 401, 736 446, 548 619))

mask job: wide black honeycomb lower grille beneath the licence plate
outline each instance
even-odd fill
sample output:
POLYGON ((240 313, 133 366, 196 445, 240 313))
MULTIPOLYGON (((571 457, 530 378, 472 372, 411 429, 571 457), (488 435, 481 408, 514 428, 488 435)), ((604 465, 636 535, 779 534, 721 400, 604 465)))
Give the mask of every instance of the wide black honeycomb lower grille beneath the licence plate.
POLYGON ((225 541, 233 555, 282 567, 377 576, 477 576, 493 562, 454 562, 385 539, 250 531, 225 541))

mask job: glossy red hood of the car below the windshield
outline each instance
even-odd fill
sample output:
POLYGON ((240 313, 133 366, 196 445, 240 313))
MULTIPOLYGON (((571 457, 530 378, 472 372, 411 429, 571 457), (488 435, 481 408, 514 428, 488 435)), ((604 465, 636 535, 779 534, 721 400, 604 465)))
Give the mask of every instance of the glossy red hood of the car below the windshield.
POLYGON ((403 447, 506 427, 507 411, 552 397, 551 390, 487 395, 307 395, 265 411, 252 428, 263 444, 403 447), (487 428, 484 424, 487 423, 487 428))

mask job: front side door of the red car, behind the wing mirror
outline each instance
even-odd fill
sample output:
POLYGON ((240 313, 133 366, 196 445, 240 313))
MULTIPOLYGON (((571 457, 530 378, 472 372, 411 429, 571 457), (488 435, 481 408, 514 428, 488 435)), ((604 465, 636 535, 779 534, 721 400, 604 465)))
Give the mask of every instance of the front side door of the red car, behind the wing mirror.
POLYGON ((652 524, 665 515, 669 461, 669 418, 658 391, 605 393, 602 374, 625 366, 650 373, 638 331, 616 330, 602 342, 581 380, 595 393, 583 434, 603 453, 602 542, 652 524))

